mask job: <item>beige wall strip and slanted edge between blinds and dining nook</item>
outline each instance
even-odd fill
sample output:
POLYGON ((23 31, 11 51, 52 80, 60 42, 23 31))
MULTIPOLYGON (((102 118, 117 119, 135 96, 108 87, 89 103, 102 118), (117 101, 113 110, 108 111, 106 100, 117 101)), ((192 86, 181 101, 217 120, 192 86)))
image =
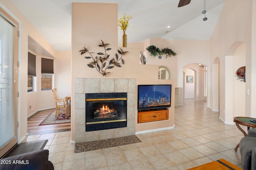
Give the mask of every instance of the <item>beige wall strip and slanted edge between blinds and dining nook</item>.
MULTIPOLYGON (((20 41, 18 57, 20 68, 18 70, 19 82, 18 90, 20 97, 18 98, 18 121, 20 127, 18 129, 18 142, 21 142, 27 134, 27 117, 28 117, 28 94, 27 94, 27 76, 28 76, 28 35, 32 37, 51 55, 55 56, 56 52, 50 44, 40 35, 40 33, 28 22, 28 20, 19 12, 19 10, 9 1, 0 0, 0 6, 6 10, 20 26, 20 41)), ((52 95, 52 94, 51 94, 52 95)), ((44 96, 46 97, 46 96, 44 96)), ((47 97, 48 98, 48 97, 47 97)), ((45 100, 47 100, 47 98, 45 100)))

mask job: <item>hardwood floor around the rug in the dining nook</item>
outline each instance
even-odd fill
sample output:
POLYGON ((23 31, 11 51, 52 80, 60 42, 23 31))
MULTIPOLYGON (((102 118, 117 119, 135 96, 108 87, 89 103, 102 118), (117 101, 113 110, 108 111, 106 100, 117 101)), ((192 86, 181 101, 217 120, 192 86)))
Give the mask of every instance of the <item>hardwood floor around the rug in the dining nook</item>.
POLYGON ((38 111, 33 116, 28 117, 28 135, 39 135, 46 133, 71 131, 71 123, 59 123, 54 125, 41 125, 39 124, 52 113, 55 109, 48 109, 38 111))

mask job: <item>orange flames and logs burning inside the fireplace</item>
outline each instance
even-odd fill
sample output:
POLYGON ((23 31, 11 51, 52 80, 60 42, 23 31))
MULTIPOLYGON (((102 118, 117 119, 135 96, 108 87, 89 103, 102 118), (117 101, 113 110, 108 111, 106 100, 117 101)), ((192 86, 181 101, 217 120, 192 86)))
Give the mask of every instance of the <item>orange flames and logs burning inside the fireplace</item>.
POLYGON ((108 105, 103 105, 100 109, 94 111, 94 119, 118 117, 118 113, 114 108, 109 108, 108 105))

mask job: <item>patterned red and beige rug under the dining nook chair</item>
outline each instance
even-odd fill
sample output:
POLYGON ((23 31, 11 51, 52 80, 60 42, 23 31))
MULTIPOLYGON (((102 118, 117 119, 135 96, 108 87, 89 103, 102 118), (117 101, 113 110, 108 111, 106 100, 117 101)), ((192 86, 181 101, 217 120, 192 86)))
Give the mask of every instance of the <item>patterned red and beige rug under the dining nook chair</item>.
POLYGON ((70 123, 71 122, 71 117, 69 116, 66 119, 66 114, 65 113, 60 113, 57 117, 55 117, 55 110, 50 113, 40 125, 52 125, 52 124, 58 124, 58 123, 70 123))

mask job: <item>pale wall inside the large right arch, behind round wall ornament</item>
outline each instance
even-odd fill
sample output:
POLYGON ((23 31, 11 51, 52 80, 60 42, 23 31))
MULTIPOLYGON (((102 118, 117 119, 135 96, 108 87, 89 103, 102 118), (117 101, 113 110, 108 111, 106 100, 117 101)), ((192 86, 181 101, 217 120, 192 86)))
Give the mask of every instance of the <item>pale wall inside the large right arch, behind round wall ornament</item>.
POLYGON ((224 85, 224 92, 219 93, 220 107, 224 110, 220 113, 220 118, 226 124, 234 124, 233 117, 246 116, 246 84, 236 76, 236 70, 246 65, 246 43, 237 41, 230 45, 224 56, 224 62, 223 71, 219 71, 219 77, 224 76, 225 80, 225 82, 219 82, 224 85), (230 100, 231 98, 233 100, 230 100))

